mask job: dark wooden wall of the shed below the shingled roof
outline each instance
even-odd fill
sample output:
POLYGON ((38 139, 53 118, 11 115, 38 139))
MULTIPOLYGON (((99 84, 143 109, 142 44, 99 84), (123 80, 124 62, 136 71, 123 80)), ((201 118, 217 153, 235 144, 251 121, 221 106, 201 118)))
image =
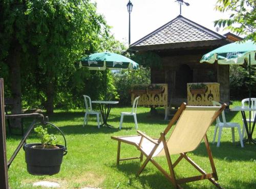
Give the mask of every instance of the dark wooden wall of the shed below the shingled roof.
POLYGON ((229 65, 199 63, 207 50, 181 52, 158 52, 162 68, 151 69, 152 83, 168 84, 168 99, 186 99, 186 83, 217 82, 220 84, 220 100, 229 101, 229 65), (186 66, 184 66, 186 65, 186 66), (191 69, 182 73, 180 70, 191 69), (182 86, 179 86, 182 85, 182 86))

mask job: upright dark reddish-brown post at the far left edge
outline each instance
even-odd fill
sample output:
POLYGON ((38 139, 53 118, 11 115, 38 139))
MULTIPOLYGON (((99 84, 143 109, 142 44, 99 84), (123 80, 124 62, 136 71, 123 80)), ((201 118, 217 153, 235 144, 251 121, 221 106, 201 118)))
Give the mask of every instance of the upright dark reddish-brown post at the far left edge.
POLYGON ((5 136, 4 79, 2 78, 0 78, 0 187, 9 188, 5 136))

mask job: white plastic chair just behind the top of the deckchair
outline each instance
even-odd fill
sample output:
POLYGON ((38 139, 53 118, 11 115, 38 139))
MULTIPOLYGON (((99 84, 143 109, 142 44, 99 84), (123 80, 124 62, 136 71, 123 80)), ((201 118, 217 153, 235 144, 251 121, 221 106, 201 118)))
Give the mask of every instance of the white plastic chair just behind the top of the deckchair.
MULTIPOLYGON (((216 101, 213 101, 213 100, 212 100, 212 104, 213 104, 214 106, 221 106, 221 103, 216 102, 216 101)), ((241 127, 240 127, 240 124, 239 124, 239 123, 235 123, 235 122, 226 122, 226 117, 225 117, 224 111, 223 111, 221 114, 222 114, 222 121, 223 121, 223 122, 220 121, 220 117, 217 118, 217 120, 216 120, 217 123, 216 123, 216 125, 215 125, 215 131, 214 131, 214 140, 212 141, 212 144, 215 143, 215 138, 216 138, 216 133, 217 133, 218 127, 219 127, 220 129, 219 129, 217 147, 220 146, 220 142, 221 142, 221 132, 222 132, 222 128, 223 128, 223 127, 231 128, 231 131, 232 131, 232 142, 234 143, 234 127, 237 127, 237 128, 238 128, 238 133, 239 133, 239 139, 240 139, 241 147, 243 148, 243 147, 244 147, 244 144, 243 144, 243 137, 242 137, 242 134, 241 134, 241 127)))

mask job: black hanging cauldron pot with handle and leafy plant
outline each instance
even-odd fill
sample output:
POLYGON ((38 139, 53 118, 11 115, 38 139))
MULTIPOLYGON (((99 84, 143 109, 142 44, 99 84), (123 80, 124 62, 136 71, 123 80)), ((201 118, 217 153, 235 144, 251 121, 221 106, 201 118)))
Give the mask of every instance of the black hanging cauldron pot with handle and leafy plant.
POLYGON ((52 123, 46 122, 42 127, 40 123, 35 124, 34 131, 39 136, 41 143, 25 144, 25 159, 27 170, 32 175, 54 175, 60 171, 63 155, 67 154, 67 143, 62 131, 52 123), (57 138, 49 134, 47 125, 54 126, 62 134, 65 146, 58 145, 57 138))

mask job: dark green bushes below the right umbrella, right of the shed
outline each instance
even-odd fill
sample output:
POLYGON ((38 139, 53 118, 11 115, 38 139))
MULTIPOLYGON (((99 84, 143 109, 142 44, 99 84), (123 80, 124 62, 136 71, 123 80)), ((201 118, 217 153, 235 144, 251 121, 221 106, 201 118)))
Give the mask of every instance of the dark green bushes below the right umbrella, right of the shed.
POLYGON ((229 87, 230 96, 235 99, 249 97, 249 83, 251 83, 251 94, 256 94, 256 67, 251 66, 251 77, 249 79, 248 68, 245 69, 239 65, 230 65, 229 87))

